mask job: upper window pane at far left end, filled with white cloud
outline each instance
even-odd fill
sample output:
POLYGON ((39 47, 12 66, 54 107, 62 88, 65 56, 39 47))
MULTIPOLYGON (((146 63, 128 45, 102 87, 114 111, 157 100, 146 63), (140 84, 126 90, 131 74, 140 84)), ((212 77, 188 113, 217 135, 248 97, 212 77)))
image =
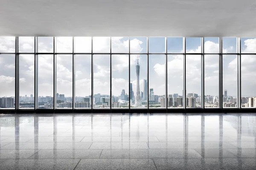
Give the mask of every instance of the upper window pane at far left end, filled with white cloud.
POLYGON ((15 37, 0 37, 0 53, 15 53, 15 37))

